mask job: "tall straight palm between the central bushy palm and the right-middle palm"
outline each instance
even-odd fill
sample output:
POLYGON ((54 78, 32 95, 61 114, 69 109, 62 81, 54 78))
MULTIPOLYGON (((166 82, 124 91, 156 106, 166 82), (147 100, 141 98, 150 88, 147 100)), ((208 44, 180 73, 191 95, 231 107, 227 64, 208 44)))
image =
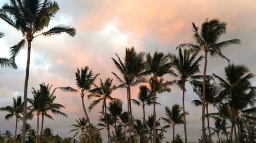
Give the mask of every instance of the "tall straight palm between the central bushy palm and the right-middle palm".
POLYGON ((152 57, 150 53, 146 55, 146 71, 144 74, 151 75, 153 84, 153 143, 156 143, 156 94, 157 94, 157 81, 158 77, 170 73, 170 63, 168 62, 168 56, 162 52, 155 52, 152 57))

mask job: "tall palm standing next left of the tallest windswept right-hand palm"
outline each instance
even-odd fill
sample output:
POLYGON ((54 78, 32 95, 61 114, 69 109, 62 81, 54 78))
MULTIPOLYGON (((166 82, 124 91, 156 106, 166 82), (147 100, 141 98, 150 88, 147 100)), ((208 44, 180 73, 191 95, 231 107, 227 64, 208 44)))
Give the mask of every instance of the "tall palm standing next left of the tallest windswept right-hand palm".
POLYGON ((184 135, 185 143, 187 143, 187 129, 186 129, 186 114, 185 114, 185 83, 189 82, 191 84, 197 83, 195 79, 200 76, 196 76, 199 70, 199 62, 203 59, 203 56, 197 58, 197 53, 191 53, 190 51, 184 49, 182 51, 179 48, 179 54, 169 54, 170 62, 173 68, 176 70, 173 75, 178 77, 176 80, 177 85, 182 90, 182 110, 183 110, 183 120, 184 120, 184 135))

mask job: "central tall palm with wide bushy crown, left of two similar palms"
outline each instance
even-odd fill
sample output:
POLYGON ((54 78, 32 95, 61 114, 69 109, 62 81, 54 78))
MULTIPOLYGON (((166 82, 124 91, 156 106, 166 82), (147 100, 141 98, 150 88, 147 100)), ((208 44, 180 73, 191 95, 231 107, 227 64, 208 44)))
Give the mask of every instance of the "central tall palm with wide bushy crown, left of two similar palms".
MULTIPOLYGON (((133 134, 135 135, 134 122, 133 122, 133 112, 131 105, 131 86, 135 86, 139 83, 145 82, 142 72, 144 70, 144 53, 135 51, 135 48, 125 48, 124 61, 122 62, 119 56, 116 54, 118 60, 114 61, 117 69, 120 71, 122 78, 121 79, 117 74, 112 72, 117 80, 121 83, 120 87, 126 88, 127 91, 127 111, 129 116, 129 134, 130 134, 130 143, 132 142, 131 138, 131 126, 133 126, 133 134)), ((135 143, 137 143, 137 139, 135 143)))

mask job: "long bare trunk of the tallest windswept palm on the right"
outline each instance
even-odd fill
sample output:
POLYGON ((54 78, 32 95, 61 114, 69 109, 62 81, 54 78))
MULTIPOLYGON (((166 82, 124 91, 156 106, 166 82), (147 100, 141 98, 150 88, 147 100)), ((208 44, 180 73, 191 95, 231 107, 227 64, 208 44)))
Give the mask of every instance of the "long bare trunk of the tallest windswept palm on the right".
POLYGON ((205 76, 206 76, 206 68, 207 68, 207 54, 208 47, 205 49, 204 56, 204 73, 203 73, 203 105, 202 105, 202 134, 203 134, 203 143, 206 143, 206 133, 205 133, 205 76))

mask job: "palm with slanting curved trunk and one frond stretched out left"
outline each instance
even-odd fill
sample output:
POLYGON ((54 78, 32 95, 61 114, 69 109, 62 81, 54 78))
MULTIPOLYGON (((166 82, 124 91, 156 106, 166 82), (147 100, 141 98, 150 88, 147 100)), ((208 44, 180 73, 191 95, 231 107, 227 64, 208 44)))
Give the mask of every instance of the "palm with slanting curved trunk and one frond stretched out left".
POLYGON ((86 66, 86 67, 84 67, 84 69, 81 68, 81 71, 79 69, 77 69, 77 72, 75 73, 75 75, 76 75, 76 86, 78 89, 74 89, 71 87, 61 87, 59 89, 64 92, 72 92, 72 93, 80 94, 81 99, 82 99, 83 111, 84 111, 84 114, 86 115, 86 119, 88 121, 91 132, 93 134, 92 136, 93 136, 94 142, 96 142, 93 127, 90 122, 89 116, 87 114, 86 106, 84 105, 83 98, 84 98, 84 95, 86 95, 91 90, 92 85, 94 85, 94 82, 99 74, 93 75, 92 70, 89 70, 89 67, 86 66))

